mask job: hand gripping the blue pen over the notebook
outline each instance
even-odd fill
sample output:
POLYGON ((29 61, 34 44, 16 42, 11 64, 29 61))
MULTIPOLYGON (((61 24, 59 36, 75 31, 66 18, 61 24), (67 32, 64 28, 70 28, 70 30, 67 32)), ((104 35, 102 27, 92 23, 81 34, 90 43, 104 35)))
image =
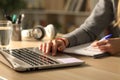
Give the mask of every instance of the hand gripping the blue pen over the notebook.
POLYGON ((103 52, 110 52, 112 55, 120 53, 120 38, 111 38, 103 41, 95 41, 91 44, 103 52))

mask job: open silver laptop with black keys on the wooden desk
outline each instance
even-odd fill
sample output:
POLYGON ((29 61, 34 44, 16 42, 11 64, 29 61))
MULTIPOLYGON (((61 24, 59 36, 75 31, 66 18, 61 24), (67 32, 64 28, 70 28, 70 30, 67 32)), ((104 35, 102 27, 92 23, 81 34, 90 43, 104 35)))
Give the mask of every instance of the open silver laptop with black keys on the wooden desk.
POLYGON ((31 71, 81 65, 84 60, 67 54, 44 55, 38 47, 0 50, 0 61, 15 71, 31 71))

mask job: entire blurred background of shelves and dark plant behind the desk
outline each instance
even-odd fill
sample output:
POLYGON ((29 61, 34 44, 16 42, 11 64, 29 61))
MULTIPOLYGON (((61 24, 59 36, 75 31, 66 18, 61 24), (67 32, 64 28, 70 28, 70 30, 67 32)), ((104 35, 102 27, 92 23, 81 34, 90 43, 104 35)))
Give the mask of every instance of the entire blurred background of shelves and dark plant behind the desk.
POLYGON ((0 0, 0 19, 4 15, 25 14, 23 29, 53 24, 58 32, 68 33, 90 15, 98 0, 0 0))

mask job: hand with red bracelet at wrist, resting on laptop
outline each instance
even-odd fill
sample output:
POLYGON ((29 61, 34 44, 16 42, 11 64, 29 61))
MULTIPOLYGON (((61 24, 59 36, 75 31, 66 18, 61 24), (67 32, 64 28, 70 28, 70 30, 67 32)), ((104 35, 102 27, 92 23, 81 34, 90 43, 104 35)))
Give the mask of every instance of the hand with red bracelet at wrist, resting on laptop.
POLYGON ((56 55, 57 50, 63 51, 66 46, 68 45, 68 40, 65 38, 62 39, 54 39, 48 42, 44 42, 40 44, 39 49, 44 52, 44 54, 52 54, 53 56, 56 55), (64 41, 63 41, 64 40, 64 41))

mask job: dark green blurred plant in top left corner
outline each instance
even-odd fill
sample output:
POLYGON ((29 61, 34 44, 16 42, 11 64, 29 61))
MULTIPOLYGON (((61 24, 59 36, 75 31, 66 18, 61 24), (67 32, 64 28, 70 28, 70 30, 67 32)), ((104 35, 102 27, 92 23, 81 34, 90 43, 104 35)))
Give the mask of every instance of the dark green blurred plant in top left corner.
POLYGON ((0 9, 7 14, 18 12, 23 8, 26 8, 25 0, 0 0, 0 9))

